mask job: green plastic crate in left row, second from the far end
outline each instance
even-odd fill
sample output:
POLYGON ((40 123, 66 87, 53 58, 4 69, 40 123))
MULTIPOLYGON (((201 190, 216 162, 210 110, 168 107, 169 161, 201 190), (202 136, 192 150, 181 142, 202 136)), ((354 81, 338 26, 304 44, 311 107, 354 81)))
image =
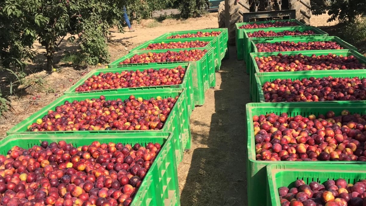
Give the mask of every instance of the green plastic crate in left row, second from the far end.
MULTIPOLYGON (((170 42, 190 42, 190 41, 203 41, 203 42, 209 42, 205 47, 195 47, 195 48, 182 48, 182 49, 196 49, 196 48, 208 48, 208 47, 213 47, 214 48, 214 52, 215 52, 215 70, 219 71, 220 70, 220 66, 221 66, 221 58, 220 58, 220 46, 219 46, 219 41, 217 40, 216 37, 205 37, 205 38, 185 38, 184 40, 181 39, 164 39, 164 40, 150 40, 147 41, 143 44, 141 44, 140 46, 137 46, 133 49, 130 50, 130 52, 132 51, 137 51, 137 50, 143 50, 145 48, 147 48, 149 46, 149 44, 154 44, 154 43, 170 43, 170 42)), ((150 51, 150 50, 147 50, 150 51)))

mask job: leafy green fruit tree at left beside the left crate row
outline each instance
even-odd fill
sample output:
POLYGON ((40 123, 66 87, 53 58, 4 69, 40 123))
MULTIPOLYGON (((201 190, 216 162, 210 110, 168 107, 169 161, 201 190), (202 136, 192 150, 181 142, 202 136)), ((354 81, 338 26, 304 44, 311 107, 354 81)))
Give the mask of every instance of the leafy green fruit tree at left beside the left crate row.
MULTIPOLYGON (((46 49, 47 69, 65 38, 77 41, 85 63, 108 60, 104 41, 108 30, 122 19, 125 1, 102 0, 5 0, 0 3, 0 60, 32 58, 33 42, 46 49)), ((13 63, 4 61, 5 66, 13 63)))

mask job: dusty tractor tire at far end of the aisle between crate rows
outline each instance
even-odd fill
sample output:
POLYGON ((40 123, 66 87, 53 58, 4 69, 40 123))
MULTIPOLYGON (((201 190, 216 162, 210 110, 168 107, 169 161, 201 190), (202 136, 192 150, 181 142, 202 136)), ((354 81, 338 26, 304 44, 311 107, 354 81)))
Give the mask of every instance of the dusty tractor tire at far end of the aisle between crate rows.
POLYGON ((240 14, 249 12, 248 0, 227 0, 225 4, 225 21, 229 32, 229 44, 235 45, 236 23, 243 22, 243 16, 240 14))

